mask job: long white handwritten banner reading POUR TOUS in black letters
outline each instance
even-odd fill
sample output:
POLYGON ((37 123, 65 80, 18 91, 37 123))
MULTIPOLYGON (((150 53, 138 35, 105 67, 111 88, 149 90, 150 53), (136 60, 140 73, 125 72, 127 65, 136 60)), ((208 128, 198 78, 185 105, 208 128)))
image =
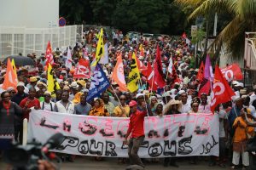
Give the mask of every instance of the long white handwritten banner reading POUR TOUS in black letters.
MULTIPOLYGON (((84 156, 127 157, 123 144, 129 118, 32 111, 28 139, 45 143, 54 133, 65 140, 57 152, 84 156)), ((218 115, 179 114, 145 117, 139 156, 218 156, 218 115)))

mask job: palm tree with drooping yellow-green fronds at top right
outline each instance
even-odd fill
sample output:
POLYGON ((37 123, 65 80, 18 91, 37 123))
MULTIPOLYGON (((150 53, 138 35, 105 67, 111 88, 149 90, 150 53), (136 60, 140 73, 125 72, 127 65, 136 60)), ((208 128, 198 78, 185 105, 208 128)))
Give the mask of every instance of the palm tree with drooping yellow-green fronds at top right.
POLYGON ((188 20, 210 13, 231 14, 232 20, 218 34, 215 44, 224 43, 234 58, 244 51, 245 31, 256 31, 256 1, 253 0, 175 0, 183 6, 194 6, 188 20))

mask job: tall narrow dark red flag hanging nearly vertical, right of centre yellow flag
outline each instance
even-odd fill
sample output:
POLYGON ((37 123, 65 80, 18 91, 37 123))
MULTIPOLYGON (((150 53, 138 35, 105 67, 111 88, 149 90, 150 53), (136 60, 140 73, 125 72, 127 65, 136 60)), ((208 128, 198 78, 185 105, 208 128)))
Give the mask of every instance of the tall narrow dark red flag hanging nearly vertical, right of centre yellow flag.
POLYGON ((163 67, 162 67, 162 61, 160 58, 160 48, 158 46, 156 49, 156 59, 154 61, 154 80, 155 82, 157 82, 160 88, 164 88, 166 86, 163 67))

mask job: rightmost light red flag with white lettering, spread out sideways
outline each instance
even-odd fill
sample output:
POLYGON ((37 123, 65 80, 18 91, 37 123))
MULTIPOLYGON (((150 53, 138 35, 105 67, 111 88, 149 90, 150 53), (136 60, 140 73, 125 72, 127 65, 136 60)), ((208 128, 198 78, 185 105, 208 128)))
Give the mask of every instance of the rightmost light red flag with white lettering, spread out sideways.
POLYGON ((241 69, 240 69, 239 65, 237 65, 237 64, 229 65, 229 66, 221 69, 221 72, 228 82, 231 82, 232 80, 242 80, 243 79, 241 69))

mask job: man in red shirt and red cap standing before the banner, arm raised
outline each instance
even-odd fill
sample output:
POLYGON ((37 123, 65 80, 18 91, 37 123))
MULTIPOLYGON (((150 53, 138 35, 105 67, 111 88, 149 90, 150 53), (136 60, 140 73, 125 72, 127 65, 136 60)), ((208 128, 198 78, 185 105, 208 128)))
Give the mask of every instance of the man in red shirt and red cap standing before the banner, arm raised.
POLYGON ((144 117, 147 115, 146 103, 142 104, 142 111, 137 110, 137 102, 131 100, 129 103, 131 108, 131 116, 128 131, 125 135, 125 144, 128 144, 128 155, 131 165, 138 165, 145 167, 140 157, 137 155, 140 145, 143 143, 145 138, 144 134, 144 117), (129 143, 127 142, 128 137, 131 134, 129 143))

